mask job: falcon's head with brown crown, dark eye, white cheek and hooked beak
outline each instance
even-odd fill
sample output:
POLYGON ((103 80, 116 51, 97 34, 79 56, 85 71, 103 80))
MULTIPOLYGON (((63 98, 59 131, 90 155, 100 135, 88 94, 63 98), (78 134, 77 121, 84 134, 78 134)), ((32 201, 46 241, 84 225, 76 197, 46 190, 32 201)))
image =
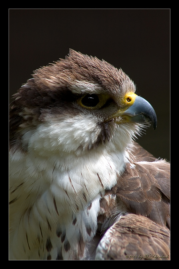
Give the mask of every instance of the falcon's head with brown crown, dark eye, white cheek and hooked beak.
POLYGON ((14 95, 11 143, 28 150, 38 129, 52 150, 123 149, 145 124, 157 124, 154 109, 135 90, 121 69, 70 50, 65 59, 36 70, 14 95))

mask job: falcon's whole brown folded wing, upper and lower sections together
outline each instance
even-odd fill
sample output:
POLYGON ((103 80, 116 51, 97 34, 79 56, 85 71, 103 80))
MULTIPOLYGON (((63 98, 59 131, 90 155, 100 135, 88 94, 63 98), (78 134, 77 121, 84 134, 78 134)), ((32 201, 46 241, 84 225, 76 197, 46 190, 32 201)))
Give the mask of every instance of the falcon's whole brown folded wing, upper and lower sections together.
MULTIPOLYGON (((131 164, 126 165, 109 193, 124 203, 128 213, 111 216, 102 225, 104 235, 98 244, 96 259, 125 260, 127 256, 129 260, 154 259, 154 254, 159 260, 170 259, 170 164, 165 160, 152 161, 152 155, 137 143, 134 148, 138 162, 133 168, 131 164), (148 162, 144 161, 147 156, 148 162)), ((108 207, 113 207, 110 200, 108 207)))

